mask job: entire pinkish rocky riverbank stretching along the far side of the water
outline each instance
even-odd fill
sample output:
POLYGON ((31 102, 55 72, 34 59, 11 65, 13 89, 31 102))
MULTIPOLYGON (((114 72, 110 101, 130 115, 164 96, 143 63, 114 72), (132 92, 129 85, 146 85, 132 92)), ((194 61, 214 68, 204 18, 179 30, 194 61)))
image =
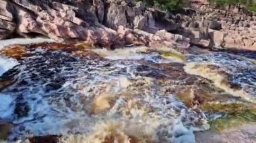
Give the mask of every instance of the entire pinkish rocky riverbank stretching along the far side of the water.
POLYGON ((197 3, 174 14, 132 0, 1 0, 0 4, 0 39, 46 36, 108 49, 131 44, 181 51, 191 45, 256 49, 256 15, 240 7, 197 3))

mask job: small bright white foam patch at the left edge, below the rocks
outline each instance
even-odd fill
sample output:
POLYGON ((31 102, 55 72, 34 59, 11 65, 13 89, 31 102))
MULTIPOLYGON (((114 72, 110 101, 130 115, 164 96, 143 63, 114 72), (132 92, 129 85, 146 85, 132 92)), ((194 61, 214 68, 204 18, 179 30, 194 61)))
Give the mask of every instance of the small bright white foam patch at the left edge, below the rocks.
POLYGON ((17 64, 19 64, 18 61, 13 58, 0 56, 0 76, 17 64))

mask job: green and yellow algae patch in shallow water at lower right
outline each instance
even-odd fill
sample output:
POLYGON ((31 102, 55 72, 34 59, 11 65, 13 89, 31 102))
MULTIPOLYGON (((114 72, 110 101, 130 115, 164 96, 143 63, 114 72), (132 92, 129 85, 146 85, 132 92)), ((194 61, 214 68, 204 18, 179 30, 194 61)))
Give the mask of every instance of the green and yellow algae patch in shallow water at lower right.
POLYGON ((209 122, 212 130, 222 131, 256 122, 256 107, 253 105, 243 103, 206 104, 202 106, 202 109, 213 113, 224 113, 223 117, 209 122))

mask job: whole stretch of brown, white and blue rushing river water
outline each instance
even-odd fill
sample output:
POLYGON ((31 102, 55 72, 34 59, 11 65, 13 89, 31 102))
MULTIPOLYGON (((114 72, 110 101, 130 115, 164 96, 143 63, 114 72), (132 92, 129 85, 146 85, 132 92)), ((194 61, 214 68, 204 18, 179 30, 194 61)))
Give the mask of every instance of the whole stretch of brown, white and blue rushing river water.
POLYGON ((232 54, 183 62, 144 51, 150 48, 95 50, 99 56, 44 46, 28 48, 18 65, 9 58, 13 64, 1 76, 11 81, 0 93, 0 119, 14 125, 8 140, 58 135, 60 142, 195 142, 193 131, 209 128, 200 104, 241 93, 255 101, 255 64, 232 54), (206 64, 226 72, 228 89, 199 72, 206 64))

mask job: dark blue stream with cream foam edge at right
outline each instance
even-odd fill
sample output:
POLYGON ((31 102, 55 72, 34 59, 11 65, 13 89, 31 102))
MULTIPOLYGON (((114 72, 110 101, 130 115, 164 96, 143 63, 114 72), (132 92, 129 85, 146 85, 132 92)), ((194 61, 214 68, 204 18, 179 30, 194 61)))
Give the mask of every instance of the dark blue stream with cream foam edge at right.
POLYGON ((255 69, 253 62, 239 56, 216 52, 191 56, 185 70, 214 81, 227 93, 255 102, 255 69))

